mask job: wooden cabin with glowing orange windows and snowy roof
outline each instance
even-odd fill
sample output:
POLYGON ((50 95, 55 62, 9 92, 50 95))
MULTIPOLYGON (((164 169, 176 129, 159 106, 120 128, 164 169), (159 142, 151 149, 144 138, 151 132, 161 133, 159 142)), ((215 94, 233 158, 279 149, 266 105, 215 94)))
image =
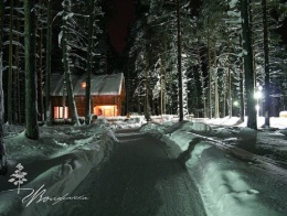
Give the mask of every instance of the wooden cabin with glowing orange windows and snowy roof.
MULTIPOLYGON (((86 76, 72 76, 74 99, 78 117, 85 116, 86 76)), ((70 118, 67 96, 64 93, 64 76, 51 75, 51 108, 54 119, 70 118)), ((92 112, 102 117, 121 116, 125 101, 124 74, 91 77, 92 112)))

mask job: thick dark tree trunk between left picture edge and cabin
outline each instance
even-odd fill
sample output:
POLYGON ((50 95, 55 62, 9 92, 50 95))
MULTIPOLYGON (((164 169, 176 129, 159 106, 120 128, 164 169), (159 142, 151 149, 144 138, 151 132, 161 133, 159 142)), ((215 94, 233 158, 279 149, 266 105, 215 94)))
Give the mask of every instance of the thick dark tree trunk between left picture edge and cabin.
POLYGON ((35 7, 34 0, 24 0, 25 18, 25 136, 39 139, 36 71, 35 71, 35 7))

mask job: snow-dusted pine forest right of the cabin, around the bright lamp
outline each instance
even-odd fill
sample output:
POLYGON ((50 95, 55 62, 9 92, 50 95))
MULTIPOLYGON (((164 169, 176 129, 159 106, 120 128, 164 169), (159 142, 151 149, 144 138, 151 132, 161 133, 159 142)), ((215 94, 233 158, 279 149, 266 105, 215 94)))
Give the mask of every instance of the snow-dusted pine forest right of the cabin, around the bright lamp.
POLYGON ((284 1, 140 1, 126 47, 128 106, 152 115, 248 116, 254 128, 254 93, 262 90, 259 115, 278 116, 285 19, 284 1))

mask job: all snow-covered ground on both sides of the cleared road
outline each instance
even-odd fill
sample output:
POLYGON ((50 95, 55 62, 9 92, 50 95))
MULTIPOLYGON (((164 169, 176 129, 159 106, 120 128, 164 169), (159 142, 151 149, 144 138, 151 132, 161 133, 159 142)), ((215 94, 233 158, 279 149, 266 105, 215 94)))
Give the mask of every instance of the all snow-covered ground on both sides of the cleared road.
POLYGON ((43 126, 38 141, 25 139, 23 127, 4 126, 9 173, 0 176, 0 215, 49 215, 61 203, 68 207, 70 199, 85 202, 85 194, 68 194, 93 168, 108 161, 118 144, 115 130, 132 127, 169 145, 169 156, 195 182, 206 215, 287 215, 287 118, 272 118, 272 129, 258 131, 246 129, 238 118, 107 120, 43 126))

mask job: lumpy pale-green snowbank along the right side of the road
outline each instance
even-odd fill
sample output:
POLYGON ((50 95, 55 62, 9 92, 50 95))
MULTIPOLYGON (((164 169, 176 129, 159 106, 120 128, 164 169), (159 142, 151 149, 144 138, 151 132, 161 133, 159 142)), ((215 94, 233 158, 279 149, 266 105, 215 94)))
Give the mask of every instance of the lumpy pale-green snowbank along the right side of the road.
MULTIPOLYGON (((141 129, 149 130, 156 134, 157 126, 141 129)), ((208 126, 191 122, 174 123, 164 130, 161 126, 158 130, 170 148, 169 156, 178 159, 195 182, 206 215, 286 215, 286 170, 261 162, 236 145, 225 149, 224 143, 200 136, 209 132, 208 126)), ((242 129, 237 143, 252 144, 255 134, 258 136, 256 131, 242 129)))

